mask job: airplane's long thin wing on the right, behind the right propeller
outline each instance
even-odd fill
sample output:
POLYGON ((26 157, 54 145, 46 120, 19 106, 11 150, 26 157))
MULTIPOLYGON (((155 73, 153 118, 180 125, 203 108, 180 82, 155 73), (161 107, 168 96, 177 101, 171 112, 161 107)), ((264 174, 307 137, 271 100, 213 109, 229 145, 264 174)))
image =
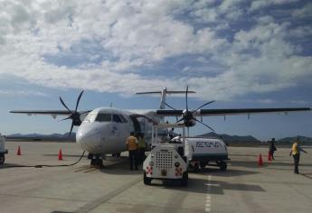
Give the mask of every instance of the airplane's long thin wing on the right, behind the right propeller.
MULTIPOLYGON (((234 116, 250 115, 263 113, 288 113, 298 111, 309 111, 311 107, 288 107, 288 108, 223 108, 223 109, 199 109, 194 113, 195 116, 234 116)), ((158 109, 158 116, 181 116, 183 110, 158 109)))

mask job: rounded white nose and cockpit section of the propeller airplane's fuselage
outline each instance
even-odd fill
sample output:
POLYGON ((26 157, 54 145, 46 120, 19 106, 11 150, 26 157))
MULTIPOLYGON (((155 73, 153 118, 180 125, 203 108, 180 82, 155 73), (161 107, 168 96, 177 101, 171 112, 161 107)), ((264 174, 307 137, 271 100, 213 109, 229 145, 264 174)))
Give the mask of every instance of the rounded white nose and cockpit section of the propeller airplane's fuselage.
POLYGON ((78 128, 76 142, 93 154, 120 153, 134 125, 128 113, 115 108, 97 108, 78 128))

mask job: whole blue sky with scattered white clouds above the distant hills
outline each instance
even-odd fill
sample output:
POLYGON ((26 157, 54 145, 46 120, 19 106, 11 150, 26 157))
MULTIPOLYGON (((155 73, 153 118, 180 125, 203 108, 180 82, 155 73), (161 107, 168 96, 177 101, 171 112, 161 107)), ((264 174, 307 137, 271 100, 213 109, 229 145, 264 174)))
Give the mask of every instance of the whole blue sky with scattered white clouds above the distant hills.
MULTIPOLYGON (((189 106, 312 106, 312 3, 305 0, 2 0, 0 132, 65 133, 62 117, 14 109, 157 108, 141 91, 189 86, 189 106)), ((184 97, 168 104, 184 108, 184 97)), ((312 136, 312 113, 206 117, 219 134, 312 136)), ((191 134, 209 130, 197 124, 191 134)))

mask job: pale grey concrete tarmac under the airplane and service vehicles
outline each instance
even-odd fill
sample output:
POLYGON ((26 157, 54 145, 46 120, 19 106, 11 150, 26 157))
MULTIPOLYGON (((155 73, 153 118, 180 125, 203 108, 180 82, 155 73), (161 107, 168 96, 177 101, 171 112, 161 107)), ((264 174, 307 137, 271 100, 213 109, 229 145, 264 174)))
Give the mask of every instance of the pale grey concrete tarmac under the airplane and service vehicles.
POLYGON ((128 153, 108 157, 105 167, 78 161, 78 144, 7 142, 0 165, 0 212, 312 212, 312 147, 301 154, 300 174, 293 172, 289 147, 267 159, 267 147, 229 147, 227 171, 206 167, 190 171, 188 187, 173 182, 143 183, 142 171, 129 171, 128 153), (16 155, 18 146, 22 155, 16 155), (61 149, 63 161, 58 160, 61 149), (258 166, 259 154, 263 166, 258 166))

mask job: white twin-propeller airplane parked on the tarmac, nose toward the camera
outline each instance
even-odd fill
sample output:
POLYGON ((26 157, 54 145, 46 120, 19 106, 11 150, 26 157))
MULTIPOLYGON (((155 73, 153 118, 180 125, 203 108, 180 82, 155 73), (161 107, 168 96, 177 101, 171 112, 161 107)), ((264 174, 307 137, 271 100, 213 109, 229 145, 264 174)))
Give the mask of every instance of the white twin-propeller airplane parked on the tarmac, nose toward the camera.
MULTIPOLYGON (((80 92, 77 98, 74 110, 66 106, 60 97, 61 104, 66 110, 12 110, 10 113, 26 114, 28 116, 51 115, 53 118, 56 118, 56 116, 67 116, 62 120, 71 119, 71 131, 74 125, 79 126, 76 133, 76 143, 80 144, 82 150, 89 152, 88 157, 91 160, 91 165, 101 167, 103 165, 102 159, 105 158, 106 154, 111 153, 118 156, 121 152, 126 151, 126 140, 131 132, 140 133, 144 131, 148 137, 148 135, 151 135, 151 126, 164 123, 164 116, 181 116, 176 123, 182 122, 187 128, 194 126, 198 122, 213 130, 212 127, 197 119, 197 116, 251 115, 311 110, 311 107, 203 109, 203 106, 212 104, 214 101, 207 102, 191 110, 188 108, 188 94, 194 93, 194 91, 189 91, 187 87, 185 91, 170 91, 163 88, 161 91, 137 93, 137 95, 161 94, 159 109, 125 110, 114 107, 99 107, 93 110, 78 111, 83 91, 80 92), (168 105, 165 102, 167 94, 185 94, 186 108, 175 109, 168 105), (165 106, 171 109, 165 109, 165 106)), ((166 130, 163 129, 158 132, 157 136, 164 138, 166 134, 166 130)))

